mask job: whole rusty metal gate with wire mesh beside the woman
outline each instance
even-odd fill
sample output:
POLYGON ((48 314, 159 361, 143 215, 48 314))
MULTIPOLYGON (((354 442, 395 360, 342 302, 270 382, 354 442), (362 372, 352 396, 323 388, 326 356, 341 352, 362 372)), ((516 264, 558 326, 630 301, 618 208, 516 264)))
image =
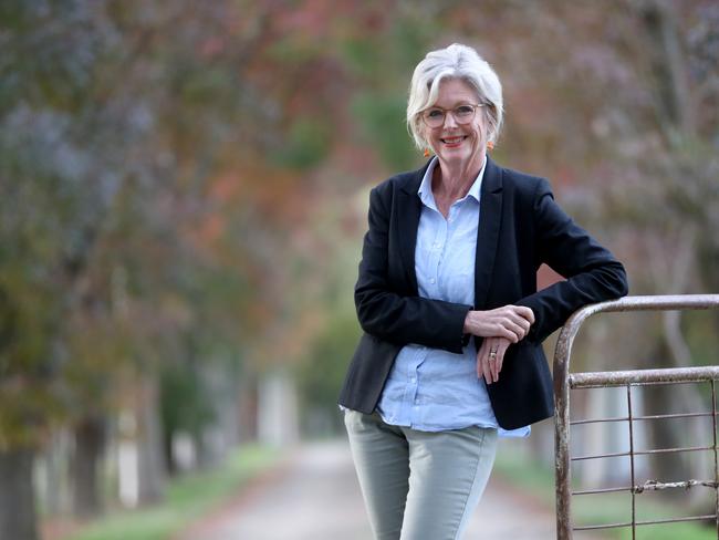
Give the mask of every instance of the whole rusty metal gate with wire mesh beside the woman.
POLYGON ((626 297, 621 300, 587 305, 574 313, 564 324, 556 342, 554 353, 554 402, 556 416, 554 424, 555 446, 555 487, 556 487, 556 538, 569 540, 573 531, 598 531, 602 529, 631 528, 632 538, 636 538, 636 529, 640 526, 669 523, 677 521, 712 520, 717 528, 719 539, 719 461, 717 457, 717 394, 716 385, 719 381, 719 366, 679 367, 667 370, 638 370, 614 371, 600 373, 570 373, 570 359, 572 343, 582 323, 595 313, 625 312, 625 311, 670 311, 670 310, 706 310, 719 308, 719 294, 687 294, 667 297, 626 297), (680 414, 635 415, 633 414, 633 388, 653 384, 706 384, 711 393, 711 411, 691 412, 680 414), (625 387, 626 416, 609 418, 570 418, 570 391, 575 388, 625 387), (712 443, 710 446, 685 446, 677 448, 638 449, 635 448, 635 423, 638 420, 655 420, 660 418, 690 418, 710 417, 712 423, 712 443), (570 432, 572 425, 586 425, 595 423, 624 423, 627 426, 629 447, 624 451, 611 454, 596 454, 573 457, 570 455, 570 432), (688 451, 707 451, 713 460, 713 477, 702 480, 688 479, 684 481, 660 482, 646 481, 637 485, 635 478, 635 457, 652 454, 670 454, 688 451), (586 459, 603 459, 625 456, 629 459, 629 478, 623 486, 605 487, 597 489, 572 490, 572 463, 586 459), (707 516, 687 516, 669 519, 637 520, 636 499, 639 495, 673 488, 688 489, 694 486, 709 488, 712 494, 715 512, 707 516), (572 497, 592 496, 611 492, 629 492, 632 506, 631 521, 617 523, 586 525, 577 527, 572 521, 572 497))

